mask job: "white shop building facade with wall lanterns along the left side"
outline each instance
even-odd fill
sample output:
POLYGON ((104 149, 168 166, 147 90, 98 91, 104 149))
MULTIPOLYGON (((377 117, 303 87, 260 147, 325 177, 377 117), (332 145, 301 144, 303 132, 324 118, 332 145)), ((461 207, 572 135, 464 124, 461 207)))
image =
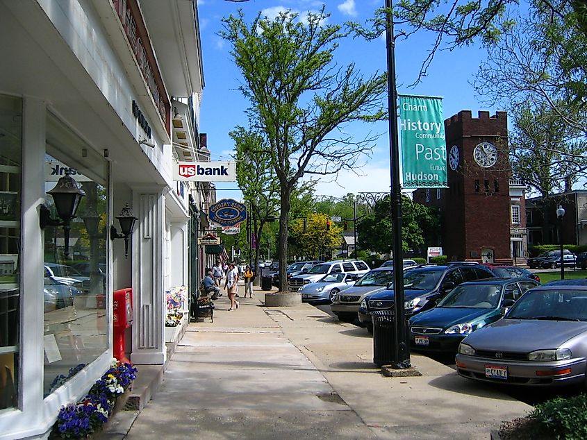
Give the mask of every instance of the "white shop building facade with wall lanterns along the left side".
POLYGON ((201 198, 172 178, 201 155, 200 47, 195 1, 0 0, 0 439, 47 437, 108 369, 113 291, 133 290, 131 362, 165 362, 201 198), (83 192, 69 228, 64 176, 83 192), (110 227, 127 204, 125 256, 110 227))

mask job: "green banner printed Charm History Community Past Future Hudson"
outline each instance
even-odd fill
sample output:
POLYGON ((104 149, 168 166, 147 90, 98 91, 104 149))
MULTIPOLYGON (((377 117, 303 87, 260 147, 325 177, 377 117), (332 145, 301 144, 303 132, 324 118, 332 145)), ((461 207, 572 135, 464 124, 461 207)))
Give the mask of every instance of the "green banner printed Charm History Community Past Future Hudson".
POLYGON ((402 187, 448 187, 442 98, 399 96, 399 119, 402 187))

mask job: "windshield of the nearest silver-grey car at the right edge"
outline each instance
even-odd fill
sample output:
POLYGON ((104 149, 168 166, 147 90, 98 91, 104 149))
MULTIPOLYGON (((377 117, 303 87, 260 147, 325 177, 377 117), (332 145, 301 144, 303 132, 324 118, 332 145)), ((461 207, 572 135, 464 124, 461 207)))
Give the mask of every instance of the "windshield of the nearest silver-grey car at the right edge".
POLYGON ((507 319, 587 321, 587 291, 572 289, 529 290, 516 301, 507 319))

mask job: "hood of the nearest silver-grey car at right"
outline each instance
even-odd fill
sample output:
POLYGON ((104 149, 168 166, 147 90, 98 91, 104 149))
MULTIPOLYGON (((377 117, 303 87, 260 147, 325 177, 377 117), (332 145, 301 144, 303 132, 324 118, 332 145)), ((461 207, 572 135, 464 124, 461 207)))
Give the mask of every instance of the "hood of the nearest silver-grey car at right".
POLYGON ((554 349, 587 332, 587 322, 499 319, 463 339, 476 350, 529 353, 554 349))

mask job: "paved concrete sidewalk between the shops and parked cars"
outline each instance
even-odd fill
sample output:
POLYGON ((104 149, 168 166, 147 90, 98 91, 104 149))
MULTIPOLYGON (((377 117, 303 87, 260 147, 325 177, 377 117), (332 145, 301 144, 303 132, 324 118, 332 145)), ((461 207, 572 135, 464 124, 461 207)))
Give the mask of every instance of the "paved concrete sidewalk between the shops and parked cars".
POLYGON ((224 294, 214 323, 190 323, 142 412, 115 416, 127 439, 489 439, 531 409, 420 355, 422 377, 383 377, 365 329, 239 291, 238 310, 224 294))

